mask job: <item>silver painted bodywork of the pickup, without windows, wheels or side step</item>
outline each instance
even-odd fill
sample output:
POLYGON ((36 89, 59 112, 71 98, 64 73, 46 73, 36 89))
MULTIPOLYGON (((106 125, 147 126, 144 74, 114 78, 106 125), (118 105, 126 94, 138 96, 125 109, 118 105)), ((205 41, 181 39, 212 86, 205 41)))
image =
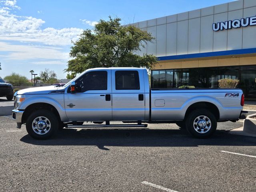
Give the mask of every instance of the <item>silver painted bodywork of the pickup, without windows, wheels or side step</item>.
MULTIPOLYGON (((210 102, 220 113, 219 120, 238 119, 242 106, 240 89, 166 89, 151 90, 148 73, 142 68, 94 68, 90 71, 107 71, 107 90, 89 90, 83 93, 68 93, 70 82, 60 88, 54 86, 30 88, 18 91, 25 100, 14 110, 24 111, 35 103, 47 103, 56 108, 62 122, 67 121, 175 121, 183 120, 189 106, 197 102, 210 102), (116 90, 115 72, 118 70, 136 70, 139 74, 139 90, 116 90), (227 93, 239 96, 226 96, 227 93), (107 101, 105 95, 110 94, 107 101), (139 100, 143 94, 144 100, 139 100), (104 95, 104 96, 102 96, 104 95), (71 106, 71 107, 70 107, 71 106), (151 110, 150 110, 151 107, 151 110)), ((21 122, 21 118, 16 119, 21 122)))

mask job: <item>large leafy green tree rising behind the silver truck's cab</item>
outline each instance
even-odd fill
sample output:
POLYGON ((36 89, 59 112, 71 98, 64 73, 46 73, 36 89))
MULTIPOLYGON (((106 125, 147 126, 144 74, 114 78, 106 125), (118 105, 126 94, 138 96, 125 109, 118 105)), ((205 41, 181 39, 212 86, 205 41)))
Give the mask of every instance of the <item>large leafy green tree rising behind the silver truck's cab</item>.
POLYGON ((145 67, 157 62, 156 56, 135 54, 144 43, 152 42, 152 35, 140 28, 121 26, 120 18, 100 20, 93 30, 84 30, 76 42, 72 42, 66 72, 81 73, 94 67, 145 67))

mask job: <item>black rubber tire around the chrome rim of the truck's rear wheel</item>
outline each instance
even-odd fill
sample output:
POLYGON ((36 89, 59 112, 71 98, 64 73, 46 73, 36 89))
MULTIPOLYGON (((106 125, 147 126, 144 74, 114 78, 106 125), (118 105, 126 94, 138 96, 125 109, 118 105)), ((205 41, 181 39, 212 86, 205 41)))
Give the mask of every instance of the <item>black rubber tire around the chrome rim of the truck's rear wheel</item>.
POLYGON ((207 109, 193 110, 192 112, 190 112, 190 114, 188 115, 188 117, 186 119, 186 129, 187 129, 187 131, 190 134, 192 134, 193 136, 195 136, 196 138, 209 138, 210 136, 212 136, 212 134, 214 134, 214 132, 216 131, 216 128, 217 128, 216 117, 214 116, 214 114, 212 114, 212 112, 210 112, 207 109), (200 115, 207 116, 211 121, 211 128, 206 133, 198 133, 194 129, 194 120, 195 120, 196 117, 198 117, 200 115))

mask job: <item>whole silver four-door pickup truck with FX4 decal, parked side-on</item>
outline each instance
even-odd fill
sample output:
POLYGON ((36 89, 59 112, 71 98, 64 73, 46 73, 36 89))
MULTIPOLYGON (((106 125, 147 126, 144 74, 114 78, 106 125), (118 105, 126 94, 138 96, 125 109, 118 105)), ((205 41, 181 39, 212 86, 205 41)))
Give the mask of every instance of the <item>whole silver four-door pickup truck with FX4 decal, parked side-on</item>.
POLYGON ((240 89, 150 89, 146 69, 93 68, 63 87, 19 90, 12 118, 17 128, 26 123, 28 134, 36 139, 49 138, 64 127, 146 127, 145 123, 176 123, 197 138, 207 138, 217 122, 246 118, 243 105, 240 89), (89 121, 94 124, 84 123, 89 121))

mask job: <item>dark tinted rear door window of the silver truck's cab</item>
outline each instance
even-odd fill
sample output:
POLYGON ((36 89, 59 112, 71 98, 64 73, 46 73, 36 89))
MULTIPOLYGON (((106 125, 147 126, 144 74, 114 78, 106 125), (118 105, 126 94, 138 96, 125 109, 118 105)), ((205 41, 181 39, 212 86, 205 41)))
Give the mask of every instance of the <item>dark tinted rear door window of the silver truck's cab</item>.
POLYGON ((116 90, 140 90, 138 71, 116 71, 116 90))

